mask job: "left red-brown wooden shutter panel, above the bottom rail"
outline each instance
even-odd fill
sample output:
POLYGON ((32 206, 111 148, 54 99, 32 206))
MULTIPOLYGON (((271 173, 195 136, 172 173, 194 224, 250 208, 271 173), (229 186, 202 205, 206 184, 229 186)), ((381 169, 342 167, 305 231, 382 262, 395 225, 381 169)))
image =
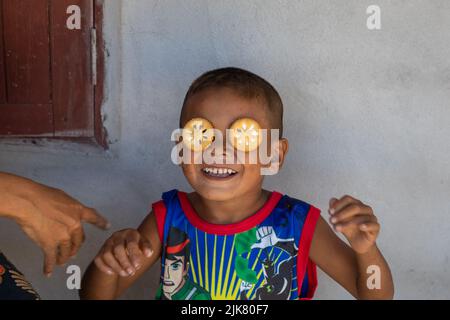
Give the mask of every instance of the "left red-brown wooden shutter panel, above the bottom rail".
POLYGON ((3 0, 8 102, 50 102, 49 19, 46 0, 3 0))

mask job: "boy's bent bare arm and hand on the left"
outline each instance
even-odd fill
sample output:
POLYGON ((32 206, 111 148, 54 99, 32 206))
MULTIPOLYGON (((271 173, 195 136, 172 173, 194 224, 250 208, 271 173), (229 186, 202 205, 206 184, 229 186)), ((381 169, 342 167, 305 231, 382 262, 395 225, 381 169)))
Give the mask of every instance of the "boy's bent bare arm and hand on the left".
POLYGON ((153 211, 137 230, 125 229, 109 238, 83 276, 81 299, 118 298, 161 255, 153 211))

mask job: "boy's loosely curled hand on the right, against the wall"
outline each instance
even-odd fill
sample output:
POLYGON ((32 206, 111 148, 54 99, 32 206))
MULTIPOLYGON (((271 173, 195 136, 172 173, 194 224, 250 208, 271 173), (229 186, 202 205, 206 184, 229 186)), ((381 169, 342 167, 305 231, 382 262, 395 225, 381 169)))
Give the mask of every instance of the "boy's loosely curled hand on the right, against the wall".
POLYGON ((372 208, 345 195, 330 199, 330 222, 334 230, 342 232, 357 253, 366 253, 375 245, 380 225, 372 208))

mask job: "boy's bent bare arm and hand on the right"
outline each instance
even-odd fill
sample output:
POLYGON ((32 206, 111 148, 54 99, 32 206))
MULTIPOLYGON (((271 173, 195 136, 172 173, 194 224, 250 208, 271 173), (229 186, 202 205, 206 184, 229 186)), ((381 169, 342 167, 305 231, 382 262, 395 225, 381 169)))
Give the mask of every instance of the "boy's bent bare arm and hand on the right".
POLYGON ((342 232, 349 245, 341 241, 320 217, 311 243, 310 258, 331 278, 358 299, 392 299, 394 284, 389 266, 378 250, 375 240, 380 226, 372 209, 350 196, 332 199, 329 209, 335 230, 342 232), (380 287, 367 285, 372 273, 369 266, 380 271, 380 287))

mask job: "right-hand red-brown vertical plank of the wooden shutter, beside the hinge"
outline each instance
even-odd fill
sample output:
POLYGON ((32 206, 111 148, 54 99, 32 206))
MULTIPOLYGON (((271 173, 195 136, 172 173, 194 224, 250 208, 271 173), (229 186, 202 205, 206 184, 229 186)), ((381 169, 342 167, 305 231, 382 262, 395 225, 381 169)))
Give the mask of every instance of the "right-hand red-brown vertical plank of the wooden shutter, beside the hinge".
POLYGON ((53 111, 56 136, 94 136, 91 81, 92 0, 51 0, 53 111), (66 27, 67 7, 78 5, 81 30, 66 27))

